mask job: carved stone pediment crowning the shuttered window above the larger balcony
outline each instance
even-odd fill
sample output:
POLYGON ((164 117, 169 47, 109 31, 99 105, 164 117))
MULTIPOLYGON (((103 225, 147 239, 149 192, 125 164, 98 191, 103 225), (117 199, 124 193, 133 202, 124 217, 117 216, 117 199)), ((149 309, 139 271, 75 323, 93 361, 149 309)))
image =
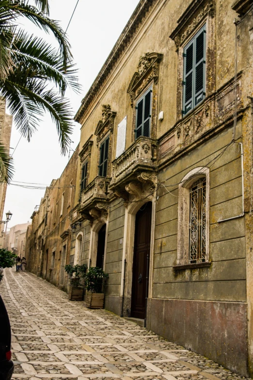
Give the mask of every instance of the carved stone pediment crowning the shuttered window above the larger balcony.
POLYGON ((131 107, 134 105, 135 99, 150 83, 158 83, 159 63, 162 54, 145 53, 140 57, 137 70, 128 86, 127 93, 130 96, 131 107))

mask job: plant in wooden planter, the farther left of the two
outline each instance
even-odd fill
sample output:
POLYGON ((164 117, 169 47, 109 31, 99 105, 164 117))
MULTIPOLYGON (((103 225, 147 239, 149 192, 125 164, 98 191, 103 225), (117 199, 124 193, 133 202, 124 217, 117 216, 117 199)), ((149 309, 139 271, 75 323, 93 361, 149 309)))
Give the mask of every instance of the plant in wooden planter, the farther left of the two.
POLYGON ((68 299, 71 301, 82 301, 83 299, 83 285, 81 280, 85 278, 87 271, 87 265, 65 265, 65 272, 70 278, 70 287, 68 293, 68 299))

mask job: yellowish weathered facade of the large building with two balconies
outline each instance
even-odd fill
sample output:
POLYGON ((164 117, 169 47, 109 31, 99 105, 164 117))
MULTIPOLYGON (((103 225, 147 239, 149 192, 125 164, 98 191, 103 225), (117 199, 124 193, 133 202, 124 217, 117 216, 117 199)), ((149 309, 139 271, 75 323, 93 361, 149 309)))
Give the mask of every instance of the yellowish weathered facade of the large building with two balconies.
POLYGON ((244 376, 252 72, 252 1, 141 0, 75 117, 69 251, 109 273, 106 309, 244 376))

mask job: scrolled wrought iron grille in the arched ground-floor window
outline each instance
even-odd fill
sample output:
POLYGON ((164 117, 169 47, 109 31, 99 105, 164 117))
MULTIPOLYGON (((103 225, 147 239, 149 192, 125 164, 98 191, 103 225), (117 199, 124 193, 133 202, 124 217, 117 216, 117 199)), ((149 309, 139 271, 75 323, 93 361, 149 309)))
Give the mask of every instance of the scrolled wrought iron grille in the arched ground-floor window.
POLYGON ((206 177, 190 188, 189 258, 188 262, 206 261, 206 177))

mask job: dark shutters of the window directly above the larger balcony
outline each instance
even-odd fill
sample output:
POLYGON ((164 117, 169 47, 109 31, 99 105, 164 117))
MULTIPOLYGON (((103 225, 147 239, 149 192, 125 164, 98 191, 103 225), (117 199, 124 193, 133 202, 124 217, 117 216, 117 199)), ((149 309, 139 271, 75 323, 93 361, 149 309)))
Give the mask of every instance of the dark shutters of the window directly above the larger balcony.
POLYGON ((150 137, 152 88, 149 88, 136 105, 135 139, 150 137))

